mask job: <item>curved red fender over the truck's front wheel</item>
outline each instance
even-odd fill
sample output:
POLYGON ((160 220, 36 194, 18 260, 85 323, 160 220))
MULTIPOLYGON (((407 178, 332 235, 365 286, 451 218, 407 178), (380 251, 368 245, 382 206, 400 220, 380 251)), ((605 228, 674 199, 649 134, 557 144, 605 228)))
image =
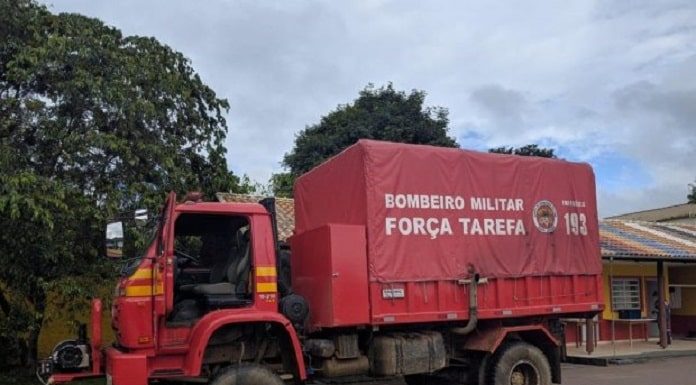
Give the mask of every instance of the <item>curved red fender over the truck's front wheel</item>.
POLYGON ((208 341, 216 330, 231 324, 259 322, 274 323, 283 327, 292 344, 297 373, 301 380, 306 380, 307 372, 302 358, 302 346, 300 345, 300 340, 297 337, 297 332, 292 326, 292 323, 279 313, 248 308, 217 310, 208 313, 196 323, 194 330, 191 332, 189 351, 186 355, 186 372, 191 376, 200 375, 205 348, 208 346, 208 341))

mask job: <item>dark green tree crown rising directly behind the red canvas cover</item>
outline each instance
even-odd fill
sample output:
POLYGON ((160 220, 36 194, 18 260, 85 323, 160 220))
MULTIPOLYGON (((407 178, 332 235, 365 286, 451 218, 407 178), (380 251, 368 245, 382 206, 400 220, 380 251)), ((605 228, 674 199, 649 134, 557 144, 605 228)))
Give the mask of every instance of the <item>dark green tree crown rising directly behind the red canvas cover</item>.
POLYGON ((352 103, 338 106, 318 124, 300 131, 283 158, 289 172, 271 180, 275 192, 290 196, 296 177, 358 139, 457 147, 447 135, 447 110, 424 106, 425 96, 419 90, 397 91, 391 83, 380 88, 368 85, 352 103))

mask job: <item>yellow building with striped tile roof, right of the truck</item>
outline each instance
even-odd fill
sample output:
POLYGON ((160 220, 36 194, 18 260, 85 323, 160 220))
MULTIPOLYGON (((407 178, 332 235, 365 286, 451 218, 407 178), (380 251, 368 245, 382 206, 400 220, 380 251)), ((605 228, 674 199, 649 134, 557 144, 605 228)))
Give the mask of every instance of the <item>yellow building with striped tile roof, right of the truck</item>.
MULTIPOLYGON (((666 329, 674 337, 696 334, 696 224, 606 219, 600 222, 600 242, 605 293, 604 312, 595 320, 600 343, 658 339, 660 285, 666 329)), ((586 333, 584 326, 567 328, 567 342, 585 340, 586 333)))

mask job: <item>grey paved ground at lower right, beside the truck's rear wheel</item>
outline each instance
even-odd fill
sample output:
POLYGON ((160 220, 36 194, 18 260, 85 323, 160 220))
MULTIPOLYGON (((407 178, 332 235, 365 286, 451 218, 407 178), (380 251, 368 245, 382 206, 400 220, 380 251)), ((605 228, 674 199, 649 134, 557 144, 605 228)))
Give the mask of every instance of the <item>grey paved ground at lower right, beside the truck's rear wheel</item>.
MULTIPOLYGON (((360 385, 404 383, 395 380, 360 385)), ((564 364, 563 385, 696 385, 696 357, 653 359, 640 364, 606 367, 564 364)))

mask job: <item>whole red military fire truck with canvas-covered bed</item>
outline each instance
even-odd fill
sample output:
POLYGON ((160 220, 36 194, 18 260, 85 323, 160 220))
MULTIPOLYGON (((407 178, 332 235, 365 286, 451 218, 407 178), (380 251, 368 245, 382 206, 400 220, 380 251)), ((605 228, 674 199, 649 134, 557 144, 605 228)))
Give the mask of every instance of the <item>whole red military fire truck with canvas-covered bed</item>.
MULTIPOLYGON (((556 159, 361 140, 300 177, 295 231, 272 199, 169 194, 101 302, 42 362, 50 383, 560 383, 561 317, 602 310, 594 175, 556 159)), ((123 223, 107 226, 121 256, 123 223)), ((127 252, 125 253, 128 254, 127 252)))

